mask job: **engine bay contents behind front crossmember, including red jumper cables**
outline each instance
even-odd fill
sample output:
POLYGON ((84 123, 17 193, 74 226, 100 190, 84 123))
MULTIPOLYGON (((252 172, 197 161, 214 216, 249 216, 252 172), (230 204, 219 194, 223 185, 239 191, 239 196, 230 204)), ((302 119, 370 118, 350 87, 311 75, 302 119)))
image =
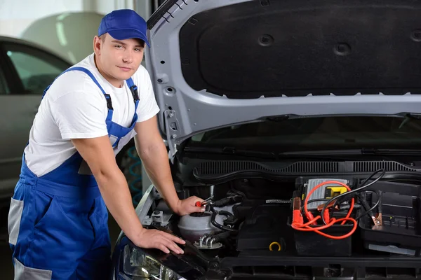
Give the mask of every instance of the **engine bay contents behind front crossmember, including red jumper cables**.
POLYGON ((298 177, 293 184, 238 179, 200 187, 197 193, 190 193, 210 195, 204 202, 206 211, 203 213, 163 219, 163 212, 155 211, 147 221, 164 225, 196 248, 212 251, 211 255, 220 257, 231 255, 230 251, 246 250, 352 255, 355 250, 367 253, 364 250, 368 249, 370 253, 419 255, 420 186, 380 181, 381 176, 376 179, 374 174, 371 177, 375 178, 370 178, 371 183, 361 183, 349 176, 298 177), (345 223, 348 212, 349 220, 345 223), (364 237, 358 242, 361 248, 351 246, 348 238, 351 235, 353 239, 364 237), (378 238, 373 238, 376 235, 378 238), (405 241, 408 238, 412 241, 405 241), (317 247, 314 244, 318 244, 317 247))

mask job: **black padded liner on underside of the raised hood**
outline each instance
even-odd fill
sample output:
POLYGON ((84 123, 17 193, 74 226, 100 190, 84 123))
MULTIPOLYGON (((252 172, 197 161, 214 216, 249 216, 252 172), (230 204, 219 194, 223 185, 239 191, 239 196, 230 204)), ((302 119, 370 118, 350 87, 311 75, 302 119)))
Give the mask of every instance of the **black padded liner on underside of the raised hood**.
POLYGON ((256 0, 180 30, 194 90, 229 98, 421 93, 421 1, 256 0))

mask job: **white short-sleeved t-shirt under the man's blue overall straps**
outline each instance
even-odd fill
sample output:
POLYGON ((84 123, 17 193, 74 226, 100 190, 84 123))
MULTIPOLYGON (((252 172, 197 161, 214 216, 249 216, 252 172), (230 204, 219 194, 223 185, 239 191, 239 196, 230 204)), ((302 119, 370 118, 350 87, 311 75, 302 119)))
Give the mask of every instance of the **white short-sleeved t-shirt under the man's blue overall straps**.
MULTIPOLYGON (((127 84, 117 88, 105 80, 95 66, 93 54, 74 66, 84 67, 93 73, 104 91, 111 96, 114 109, 112 121, 129 127, 135 104, 127 84)), ((142 122, 155 116, 159 107, 145 67, 140 65, 132 78, 138 86, 140 100, 137 113, 138 122, 142 122)), ((70 139, 108 135, 105 123, 107 114, 104 94, 86 73, 68 71, 62 74, 44 96, 29 132, 29 145, 25 148, 29 169, 36 176, 42 176, 76 153, 70 139)), ((114 153, 121 148, 119 146, 114 153)))

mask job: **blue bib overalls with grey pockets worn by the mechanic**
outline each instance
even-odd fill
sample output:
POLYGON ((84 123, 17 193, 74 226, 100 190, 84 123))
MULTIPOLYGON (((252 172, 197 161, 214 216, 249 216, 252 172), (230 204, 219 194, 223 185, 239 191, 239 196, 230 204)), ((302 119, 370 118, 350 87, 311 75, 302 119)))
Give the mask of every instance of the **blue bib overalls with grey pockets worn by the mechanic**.
MULTIPOLYGON (((105 94, 107 130, 113 147, 133 134, 136 113, 130 127, 113 123, 111 98, 92 73, 82 67, 66 71, 85 72, 105 94)), ((137 87, 131 78, 126 83, 136 112, 137 87)), ((76 152, 38 177, 27 167, 24 153, 8 218, 15 279, 107 279, 111 254, 107 208, 93 175, 81 174, 83 164, 86 162, 76 152)))

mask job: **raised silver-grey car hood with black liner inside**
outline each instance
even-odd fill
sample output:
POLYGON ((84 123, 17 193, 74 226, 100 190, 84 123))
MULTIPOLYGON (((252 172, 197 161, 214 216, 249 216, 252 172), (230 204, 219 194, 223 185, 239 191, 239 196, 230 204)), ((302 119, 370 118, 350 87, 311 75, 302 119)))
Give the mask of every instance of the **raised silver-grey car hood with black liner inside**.
POLYGON ((170 146, 267 116, 421 113, 421 1, 168 0, 148 20, 170 146))

